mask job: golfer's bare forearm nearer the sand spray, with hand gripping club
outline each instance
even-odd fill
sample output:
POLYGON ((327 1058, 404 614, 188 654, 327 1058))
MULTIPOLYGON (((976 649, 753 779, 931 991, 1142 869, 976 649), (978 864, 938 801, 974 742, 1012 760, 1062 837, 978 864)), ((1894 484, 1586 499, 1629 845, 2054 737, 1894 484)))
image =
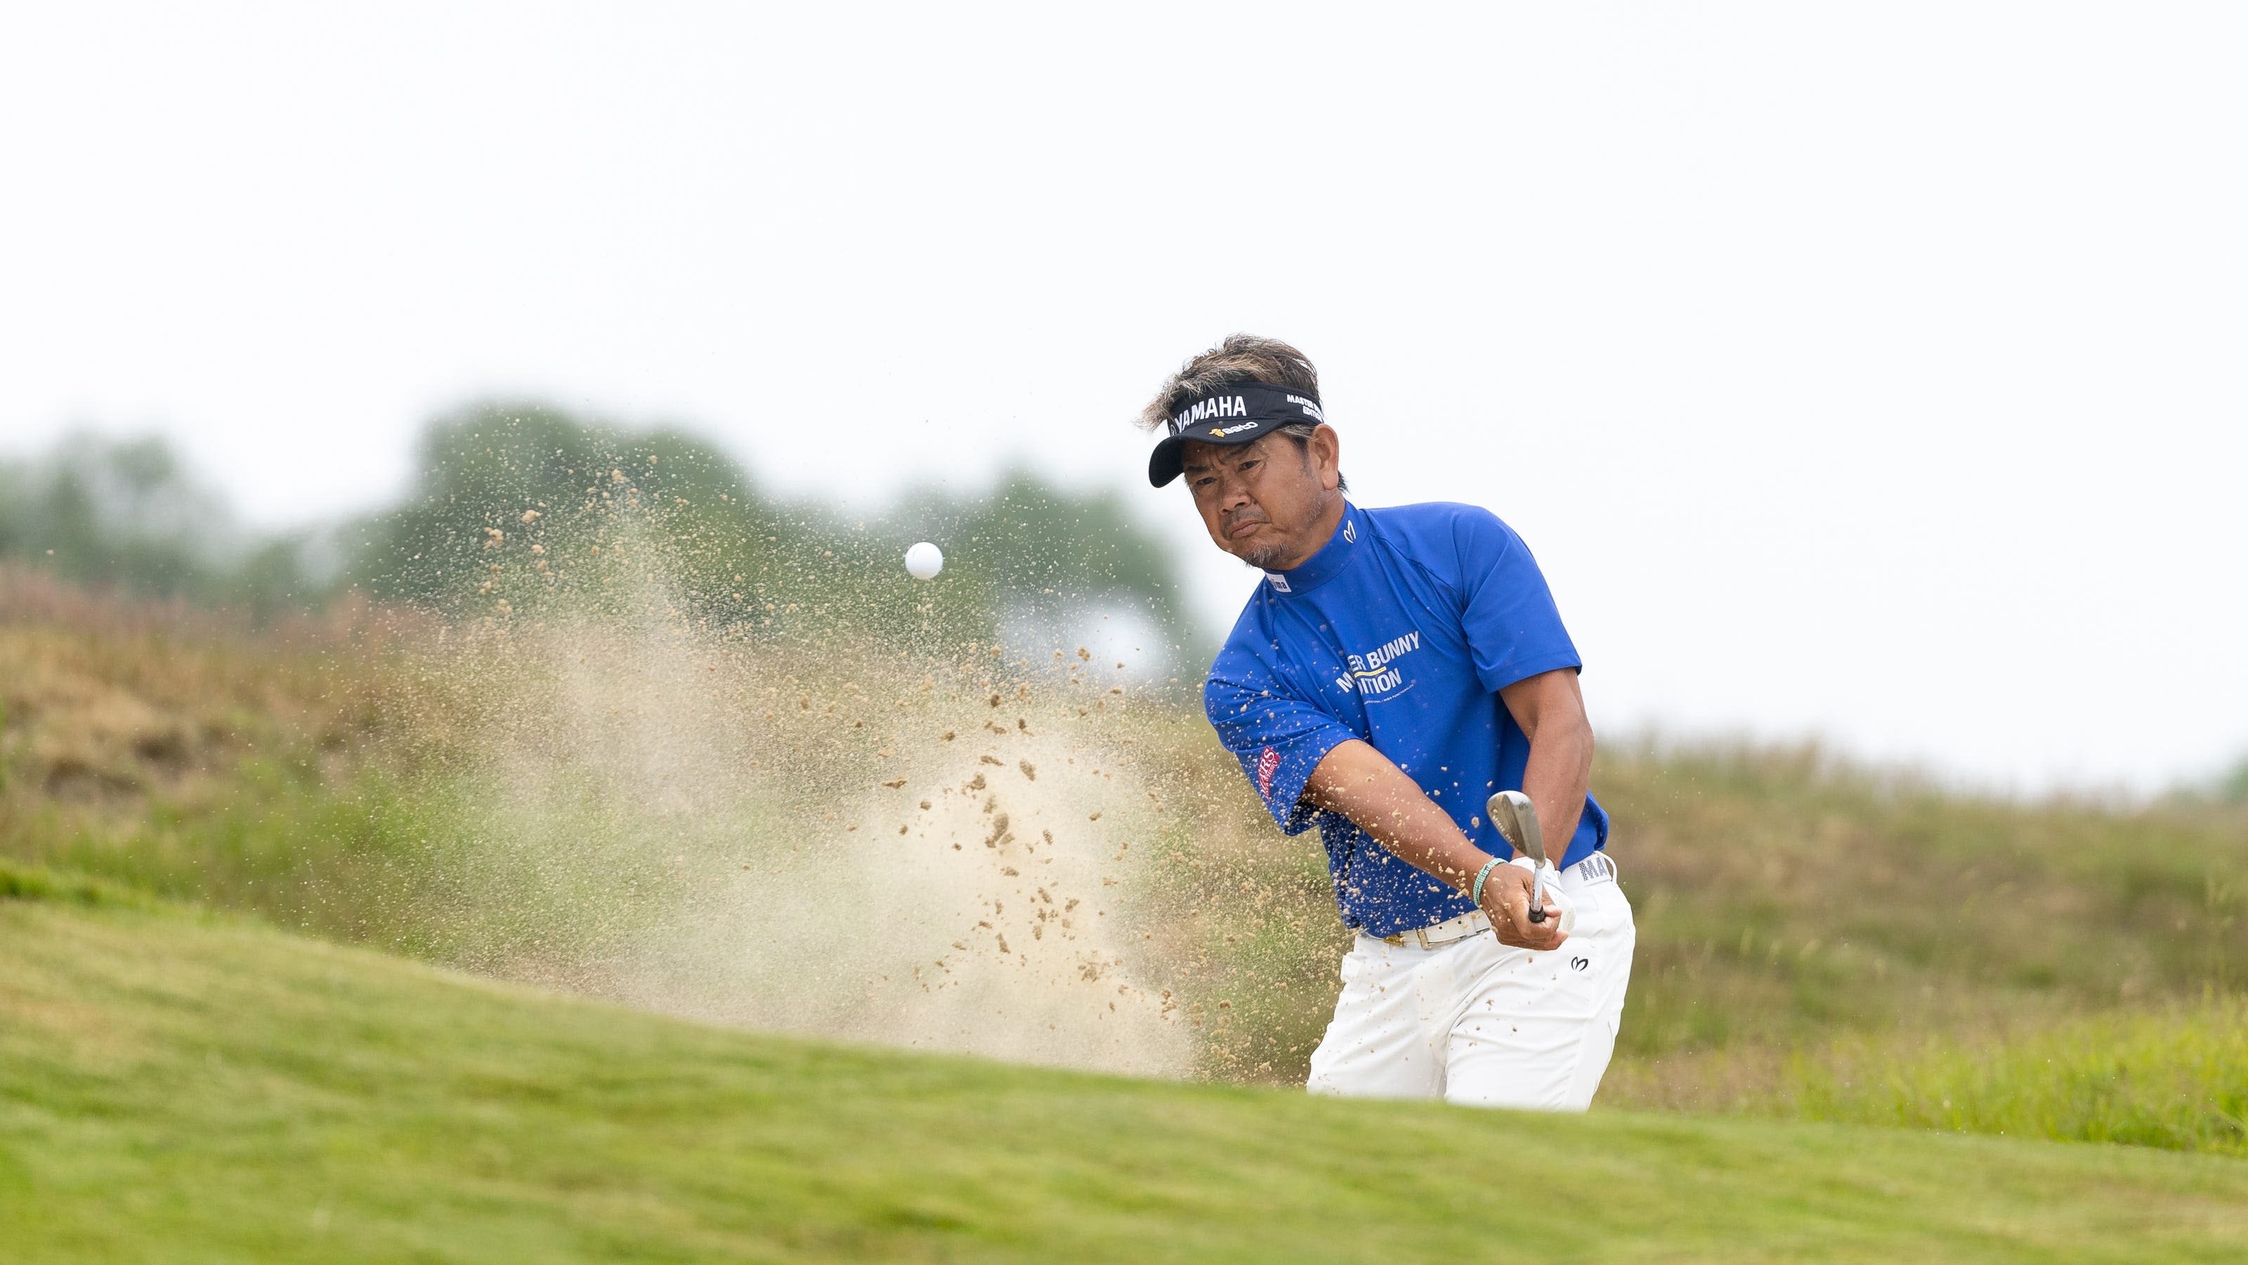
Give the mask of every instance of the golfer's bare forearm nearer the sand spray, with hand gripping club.
MULTIPOLYGON (((1452 818, 1421 791, 1418 782, 1367 741, 1351 739, 1329 750, 1311 771, 1304 793, 1311 795, 1313 804, 1351 818, 1376 843, 1461 892, 1470 890, 1475 874, 1484 870, 1486 861, 1493 861, 1452 825, 1452 818)), ((1560 928, 1562 910, 1542 901, 1540 917, 1531 919, 1531 870, 1522 865, 1490 870, 1484 879, 1481 901, 1490 930, 1497 932, 1499 944, 1515 948, 1540 953, 1558 948, 1560 941, 1569 939, 1560 928)))

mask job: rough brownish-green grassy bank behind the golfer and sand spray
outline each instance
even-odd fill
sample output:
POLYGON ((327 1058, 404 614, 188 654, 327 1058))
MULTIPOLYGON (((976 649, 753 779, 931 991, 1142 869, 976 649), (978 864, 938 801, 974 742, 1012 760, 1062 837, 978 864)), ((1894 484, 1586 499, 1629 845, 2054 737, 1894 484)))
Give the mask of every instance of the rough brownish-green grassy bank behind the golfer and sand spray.
MULTIPOLYGON (((461 755, 513 694, 432 672, 432 636, 351 609, 250 634, 0 568, 0 863, 454 964, 663 908, 614 892, 674 881, 672 836, 506 881, 461 867, 495 854, 461 755), (593 903, 549 890, 587 872, 593 903)), ((1007 685, 991 672, 978 701, 1007 685)), ((1068 701, 1043 690, 1023 710, 1068 701)), ((850 737, 881 690, 830 694, 778 721, 749 706, 735 739, 787 753, 780 784, 872 782, 850 737)), ((1131 703, 1104 723, 1133 746, 1099 762, 1158 791, 1131 838, 1164 863, 1131 899, 1160 930, 1151 977, 1200 1025, 1198 1070, 1302 1083, 1342 950, 1317 845, 1272 829, 1198 715, 1131 703)), ((2248 807, 2014 804, 1816 750, 1621 744, 1596 786, 1641 928, 1605 1105, 2248 1150, 2248 807)), ((638 829, 636 807, 587 825, 638 829)), ((767 834, 832 834, 816 809, 767 834)), ((726 872, 735 825, 699 822, 726 872)))

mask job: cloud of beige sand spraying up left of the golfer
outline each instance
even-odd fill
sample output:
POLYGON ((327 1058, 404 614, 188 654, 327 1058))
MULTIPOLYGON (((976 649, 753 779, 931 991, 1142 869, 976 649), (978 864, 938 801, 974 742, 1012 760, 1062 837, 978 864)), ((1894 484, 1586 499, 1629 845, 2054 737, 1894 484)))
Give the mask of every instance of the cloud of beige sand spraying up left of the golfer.
POLYGON ((699 1020, 1135 1074, 1196 1038, 1135 892, 1160 795, 1079 647, 771 634, 647 566, 459 625, 443 955, 699 1020))

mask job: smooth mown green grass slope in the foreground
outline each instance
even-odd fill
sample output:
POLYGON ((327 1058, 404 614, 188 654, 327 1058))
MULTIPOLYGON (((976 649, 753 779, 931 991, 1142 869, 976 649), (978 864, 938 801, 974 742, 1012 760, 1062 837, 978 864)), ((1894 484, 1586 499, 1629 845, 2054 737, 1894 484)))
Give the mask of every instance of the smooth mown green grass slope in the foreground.
POLYGON ((2248 1252, 2248 1164, 2205 1155, 845 1049, 162 908, 0 901, 0 959, 20 1265, 2248 1252), (1531 1164, 1538 1229, 1495 1213, 1531 1164))

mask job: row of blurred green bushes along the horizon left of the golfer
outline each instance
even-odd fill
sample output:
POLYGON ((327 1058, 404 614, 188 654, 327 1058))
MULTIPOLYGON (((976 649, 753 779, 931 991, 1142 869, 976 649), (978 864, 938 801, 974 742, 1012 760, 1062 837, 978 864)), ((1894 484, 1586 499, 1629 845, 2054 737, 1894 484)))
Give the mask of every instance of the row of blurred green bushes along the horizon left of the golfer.
POLYGON ((414 467, 393 508, 268 535, 162 438, 79 434, 0 463, 0 559, 259 620, 353 589, 454 618, 638 595, 722 625, 928 647, 991 640, 1009 611, 1124 604, 1167 645, 1194 643, 1171 559, 1122 497, 1027 470, 987 492, 913 488, 883 515, 850 517, 762 490, 681 429, 634 431, 535 402, 436 418, 414 467), (944 548, 942 589, 906 577, 917 539, 944 548))

